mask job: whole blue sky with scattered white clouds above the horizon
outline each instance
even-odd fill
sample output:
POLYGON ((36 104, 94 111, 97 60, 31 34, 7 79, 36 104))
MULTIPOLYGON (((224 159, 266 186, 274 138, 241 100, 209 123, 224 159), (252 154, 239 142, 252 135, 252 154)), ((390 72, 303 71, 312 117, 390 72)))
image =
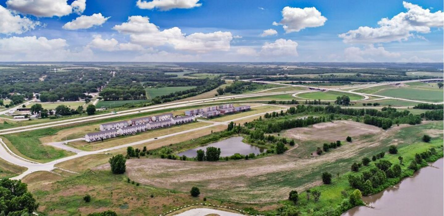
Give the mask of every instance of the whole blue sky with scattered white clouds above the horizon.
POLYGON ((443 2, 436 0, 0 5, 0 61, 443 61, 443 2))

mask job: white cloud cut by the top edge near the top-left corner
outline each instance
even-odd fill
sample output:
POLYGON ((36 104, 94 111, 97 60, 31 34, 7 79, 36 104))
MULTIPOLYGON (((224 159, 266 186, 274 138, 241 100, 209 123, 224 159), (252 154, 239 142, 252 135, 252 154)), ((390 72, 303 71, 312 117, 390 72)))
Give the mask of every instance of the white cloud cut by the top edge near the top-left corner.
POLYGON ((72 12, 81 14, 86 8, 86 0, 75 0, 67 4, 67 0, 8 0, 9 9, 22 14, 41 17, 66 16, 72 12))

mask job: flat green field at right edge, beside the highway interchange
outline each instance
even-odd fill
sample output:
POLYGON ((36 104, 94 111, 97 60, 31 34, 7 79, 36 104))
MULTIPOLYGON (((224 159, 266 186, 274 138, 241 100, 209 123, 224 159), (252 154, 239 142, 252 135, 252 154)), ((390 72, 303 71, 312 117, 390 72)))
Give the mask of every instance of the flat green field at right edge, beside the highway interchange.
POLYGON ((409 100, 440 102, 443 101, 444 92, 438 89, 390 88, 377 92, 377 95, 399 97, 409 100))

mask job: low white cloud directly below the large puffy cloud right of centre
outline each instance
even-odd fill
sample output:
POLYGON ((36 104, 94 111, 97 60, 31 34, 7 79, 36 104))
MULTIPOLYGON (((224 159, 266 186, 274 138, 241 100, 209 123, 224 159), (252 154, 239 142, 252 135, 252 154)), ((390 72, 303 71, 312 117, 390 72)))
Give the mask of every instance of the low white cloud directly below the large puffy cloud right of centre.
POLYGON ((297 42, 293 40, 277 39, 273 43, 262 45, 261 55, 265 56, 297 56, 297 42))

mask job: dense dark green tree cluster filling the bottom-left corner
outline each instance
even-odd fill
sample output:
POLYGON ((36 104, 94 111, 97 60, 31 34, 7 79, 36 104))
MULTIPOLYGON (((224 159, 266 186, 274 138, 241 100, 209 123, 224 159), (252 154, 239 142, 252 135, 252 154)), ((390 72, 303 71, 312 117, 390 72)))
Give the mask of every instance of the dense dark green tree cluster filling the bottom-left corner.
POLYGON ((0 215, 32 215, 39 204, 20 180, 0 179, 0 215))

